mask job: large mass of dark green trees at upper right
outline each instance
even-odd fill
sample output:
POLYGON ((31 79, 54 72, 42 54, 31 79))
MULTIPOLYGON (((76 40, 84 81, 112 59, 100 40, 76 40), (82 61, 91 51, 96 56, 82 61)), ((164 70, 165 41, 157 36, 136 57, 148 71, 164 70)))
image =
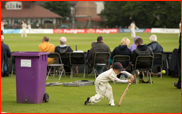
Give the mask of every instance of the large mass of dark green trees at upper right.
POLYGON ((132 20, 140 28, 178 28, 181 20, 180 1, 105 1, 101 15, 105 26, 129 26, 132 20))

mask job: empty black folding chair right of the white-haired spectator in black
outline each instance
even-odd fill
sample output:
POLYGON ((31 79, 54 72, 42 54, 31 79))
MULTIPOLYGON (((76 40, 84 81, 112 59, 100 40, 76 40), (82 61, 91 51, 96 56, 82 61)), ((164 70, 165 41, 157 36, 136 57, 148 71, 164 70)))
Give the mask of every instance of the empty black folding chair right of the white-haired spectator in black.
POLYGON ((75 65, 84 65, 84 73, 83 78, 85 78, 85 69, 86 69, 86 57, 84 52, 73 52, 70 53, 70 64, 71 64, 71 75, 70 78, 73 77, 73 66, 75 65))

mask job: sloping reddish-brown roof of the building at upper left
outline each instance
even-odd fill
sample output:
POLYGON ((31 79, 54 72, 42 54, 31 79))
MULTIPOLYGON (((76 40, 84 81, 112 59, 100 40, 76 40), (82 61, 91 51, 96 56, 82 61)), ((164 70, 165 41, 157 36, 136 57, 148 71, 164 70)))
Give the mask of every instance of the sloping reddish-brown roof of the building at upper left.
POLYGON ((32 5, 30 9, 6 10, 1 9, 1 18, 62 18, 42 6, 32 5))

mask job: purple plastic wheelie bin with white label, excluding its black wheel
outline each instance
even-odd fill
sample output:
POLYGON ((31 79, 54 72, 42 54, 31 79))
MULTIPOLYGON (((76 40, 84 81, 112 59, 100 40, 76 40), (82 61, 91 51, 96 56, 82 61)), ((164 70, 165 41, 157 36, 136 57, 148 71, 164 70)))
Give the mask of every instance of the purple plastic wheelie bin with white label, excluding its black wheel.
POLYGON ((47 52, 16 52, 17 103, 43 103, 46 87, 47 52))

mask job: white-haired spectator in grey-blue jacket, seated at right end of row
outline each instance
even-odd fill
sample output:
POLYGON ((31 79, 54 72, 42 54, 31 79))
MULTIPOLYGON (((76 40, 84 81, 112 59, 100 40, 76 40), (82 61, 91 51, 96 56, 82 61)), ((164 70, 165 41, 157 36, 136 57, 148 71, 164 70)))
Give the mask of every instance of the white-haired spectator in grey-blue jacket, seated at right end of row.
MULTIPOLYGON (((163 54, 163 48, 160 44, 157 42, 157 36, 156 35, 151 35, 150 36, 150 41, 147 46, 153 51, 153 53, 161 53, 163 54)), ((161 64, 161 59, 154 59, 154 65, 160 65, 161 64)), ((161 68, 160 66, 157 67, 157 72, 158 72, 158 77, 161 77, 161 68)))

